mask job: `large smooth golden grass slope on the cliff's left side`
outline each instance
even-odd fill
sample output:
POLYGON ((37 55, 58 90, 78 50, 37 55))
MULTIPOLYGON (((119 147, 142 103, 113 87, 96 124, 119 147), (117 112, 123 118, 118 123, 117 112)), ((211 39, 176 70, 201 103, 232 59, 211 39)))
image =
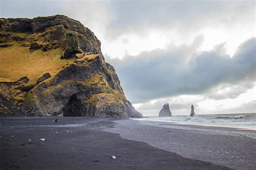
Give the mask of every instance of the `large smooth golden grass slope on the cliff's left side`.
POLYGON ((29 47, 13 41, 13 46, 0 48, 0 82, 14 82, 21 77, 28 77, 28 84, 35 84, 36 80, 45 72, 51 76, 73 61, 60 60, 62 49, 51 49, 48 52, 37 50, 31 52, 29 47))

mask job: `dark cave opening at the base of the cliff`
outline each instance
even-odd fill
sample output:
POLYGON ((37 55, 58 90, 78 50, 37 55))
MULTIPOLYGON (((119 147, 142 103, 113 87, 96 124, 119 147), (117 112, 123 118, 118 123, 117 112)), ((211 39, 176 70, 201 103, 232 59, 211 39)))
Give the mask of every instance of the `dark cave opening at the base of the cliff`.
POLYGON ((63 108, 63 116, 83 116, 85 112, 84 104, 76 95, 70 96, 69 102, 63 108))

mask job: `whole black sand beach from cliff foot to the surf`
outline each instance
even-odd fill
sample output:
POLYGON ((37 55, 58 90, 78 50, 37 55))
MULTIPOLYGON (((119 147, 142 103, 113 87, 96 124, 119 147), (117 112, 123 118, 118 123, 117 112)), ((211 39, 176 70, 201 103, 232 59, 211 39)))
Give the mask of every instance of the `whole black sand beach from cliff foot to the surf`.
MULTIPOLYGON (((176 143, 180 140, 180 144, 198 143, 199 145, 200 143, 208 147, 210 140, 207 140, 209 137, 204 131, 197 134, 197 130, 182 129, 187 127, 185 125, 172 125, 181 128, 167 125, 170 126, 168 128, 134 120, 91 117, 57 117, 59 122, 54 123, 52 120, 55 118, 1 118, 0 168, 253 169, 255 167, 256 144, 255 139, 249 137, 209 134, 212 137, 211 141, 215 143, 213 149, 217 146, 223 148, 224 145, 235 147, 235 151, 246 157, 247 162, 240 162, 239 167, 235 163, 232 165, 228 161, 218 161, 219 158, 209 159, 205 156, 204 147, 195 148, 197 151, 193 155, 190 149, 187 149, 188 146, 171 145, 169 142, 176 143), (40 141, 41 138, 46 140, 40 141), (225 142, 229 140, 230 143, 221 144, 221 140, 225 142), (236 147, 239 143, 240 147, 236 147), (201 156, 198 151, 203 152, 201 156), (113 155, 116 159, 111 159, 113 155)), ((207 132, 208 128, 201 129, 206 129, 207 132)), ((236 131, 234 130, 233 133, 237 133, 236 131)), ((249 132, 252 133, 252 137, 255 136, 254 131, 249 132)), ((213 156, 217 155, 213 154, 213 156)))

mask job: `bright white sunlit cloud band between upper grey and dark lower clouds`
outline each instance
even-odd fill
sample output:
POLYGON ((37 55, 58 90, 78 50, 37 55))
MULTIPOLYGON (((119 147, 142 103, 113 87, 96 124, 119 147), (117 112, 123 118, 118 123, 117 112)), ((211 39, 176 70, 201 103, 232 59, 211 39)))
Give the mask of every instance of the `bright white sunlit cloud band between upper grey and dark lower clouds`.
MULTIPOLYGON (((199 47, 200 51, 210 51, 216 45, 225 43, 226 53, 231 57, 234 55, 237 47, 241 42, 252 38, 254 28, 249 27, 245 32, 243 29, 228 29, 223 28, 205 28, 196 33, 197 36, 203 36, 203 44, 199 47)), ((148 31, 148 30, 147 30, 148 31)), ((180 46, 182 44, 191 45, 197 36, 183 37, 177 31, 159 31, 151 30, 148 36, 140 36, 136 33, 126 33, 116 39, 102 39, 102 51, 110 58, 123 59, 125 55, 138 55, 141 52, 152 51, 153 49, 166 49, 170 45, 180 46)), ((99 33, 99 37, 104 37, 99 33)))

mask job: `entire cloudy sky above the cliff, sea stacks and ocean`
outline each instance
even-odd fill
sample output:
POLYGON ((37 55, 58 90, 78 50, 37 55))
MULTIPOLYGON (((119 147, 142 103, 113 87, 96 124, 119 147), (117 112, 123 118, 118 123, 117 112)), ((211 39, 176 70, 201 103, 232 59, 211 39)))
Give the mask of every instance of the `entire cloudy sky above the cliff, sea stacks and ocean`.
POLYGON ((5 1, 0 17, 62 14, 102 42, 144 116, 256 112, 255 1, 5 1))

